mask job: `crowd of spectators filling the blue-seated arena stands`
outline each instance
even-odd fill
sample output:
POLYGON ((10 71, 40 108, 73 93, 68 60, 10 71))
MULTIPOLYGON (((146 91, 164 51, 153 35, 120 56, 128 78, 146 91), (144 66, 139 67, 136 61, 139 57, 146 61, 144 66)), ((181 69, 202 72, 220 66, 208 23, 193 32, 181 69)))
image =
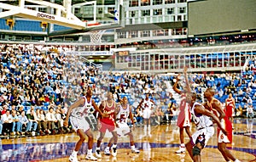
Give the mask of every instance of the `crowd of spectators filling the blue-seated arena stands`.
MULTIPOLYGON (((128 98, 137 126, 143 125, 143 109, 138 104, 145 93, 150 93, 155 103, 153 125, 177 119, 177 101, 167 87, 173 84, 174 75, 104 72, 58 47, 2 44, 0 59, 1 135, 70 132, 70 126, 63 127, 67 107, 88 86, 93 87, 97 104, 105 99, 108 91, 113 92, 117 102, 128 98)), ((232 92, 236 98, 236 115, 253 117, 250 109, 256 108, 255 67, 253 58, 242 74, 190 74, 189 77, 194 91, 201 94, 207 87, 214 87, 218 92, 216 98, 223 103, 232 92)))

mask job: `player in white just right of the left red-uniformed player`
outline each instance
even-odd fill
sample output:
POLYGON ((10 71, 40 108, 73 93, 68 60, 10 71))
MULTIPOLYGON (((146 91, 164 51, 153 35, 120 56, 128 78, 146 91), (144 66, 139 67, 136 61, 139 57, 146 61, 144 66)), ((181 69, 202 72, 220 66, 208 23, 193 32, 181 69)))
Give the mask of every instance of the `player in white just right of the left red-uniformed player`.
MULTIPOLYGON (((130 117, 132 126, 135 127, 133 115, 131 113, 131 106, 128 104, 128 100, 126 97, 121 99, 121 104, 117 109, 117 124, 119 127, 116 128, 117 134, 119 137, 129 136, 130 137, 130 144, 131 144, 131 153, 139 154, 140 151, 135 148, 134 141, 133 141, 133 134, 128 126, 128 117, 130 117)), ((113 142, 113 137, 108 142, 108 147, 111 147, 113 142)))

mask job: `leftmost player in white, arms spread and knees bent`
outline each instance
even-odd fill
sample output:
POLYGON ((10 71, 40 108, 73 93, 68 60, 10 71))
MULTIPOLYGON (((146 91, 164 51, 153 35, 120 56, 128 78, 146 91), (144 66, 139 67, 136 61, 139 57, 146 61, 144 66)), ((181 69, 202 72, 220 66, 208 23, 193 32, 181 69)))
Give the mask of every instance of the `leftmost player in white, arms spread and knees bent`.
POLYGON ((82 98, 79 98, 77 102, 73 103, 67 109, 67 117, 63 125, 68 126, 68 120, 70 117, 71 125, 80 137, 79 141, 75 145, 73 154, 71 154, 69 157, 69 161, 71 162, 79 161, 77 158, 77 154, 85 140, 85 135, 88 137, 88 151, 85 159, 97 160, 96 157, 94 157, 92 154, 93 134, 90 131, 89 123, 85 120, 85 116, 88 115, 91 107, 94 107, 94 109, 96 109, 102 116, 106 115, 102 114, 102 111, 96 106, 96 103, 91 98, 91 96, 92 91, 90 87, 88 87, 86 95, 82 98))

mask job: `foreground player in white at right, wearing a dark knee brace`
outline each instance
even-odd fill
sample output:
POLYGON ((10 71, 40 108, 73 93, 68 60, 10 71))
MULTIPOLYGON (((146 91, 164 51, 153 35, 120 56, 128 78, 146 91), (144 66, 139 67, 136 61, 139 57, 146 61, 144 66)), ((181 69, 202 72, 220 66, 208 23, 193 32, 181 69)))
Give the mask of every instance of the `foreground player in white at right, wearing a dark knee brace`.
POLYGON ((190 105, 190 112, 193 116, 196 131, 190 138, 190 141, 186 143, 186 148, 190 157, 195 161, 201 161, 201 150, 206 146, 210 137, 214 134, 214 127, 212 126, 212 120, 218 125, 219 129, 226 135, 227 132, 221 126, 218 117, 211 111, 205 109, 201 103, 195 102, 196 93, 188 93, 186 97, 187 102, 190 105), (212 118, 212 120, 211 120, 212 118))

